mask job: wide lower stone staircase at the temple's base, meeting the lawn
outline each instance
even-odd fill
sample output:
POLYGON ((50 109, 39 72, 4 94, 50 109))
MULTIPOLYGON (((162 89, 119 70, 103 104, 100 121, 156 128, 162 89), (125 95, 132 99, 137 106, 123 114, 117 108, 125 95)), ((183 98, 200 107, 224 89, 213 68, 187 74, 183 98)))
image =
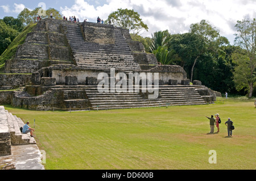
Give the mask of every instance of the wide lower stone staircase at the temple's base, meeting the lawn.
POLYGON ((147 99, 136 92, 100 93, 97 86, 86 86, 93 110, 206 104, 192 86, 159 86, 159 91, 158 99, 147 99))

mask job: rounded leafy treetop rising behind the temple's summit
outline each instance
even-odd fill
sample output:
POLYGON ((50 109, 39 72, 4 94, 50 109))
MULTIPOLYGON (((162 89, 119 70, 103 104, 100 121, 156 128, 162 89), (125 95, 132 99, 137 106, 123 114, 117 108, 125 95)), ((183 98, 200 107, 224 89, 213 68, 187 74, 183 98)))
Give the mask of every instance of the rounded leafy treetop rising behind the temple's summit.
POLYGON ((138 12, 128 9, 118 9, 112 12, 105 23, 111 23, 116 27, 121 27, 130 31, 130 33, 139 34, 141 31, 148 31, 147 24, 142 22, 138 12))

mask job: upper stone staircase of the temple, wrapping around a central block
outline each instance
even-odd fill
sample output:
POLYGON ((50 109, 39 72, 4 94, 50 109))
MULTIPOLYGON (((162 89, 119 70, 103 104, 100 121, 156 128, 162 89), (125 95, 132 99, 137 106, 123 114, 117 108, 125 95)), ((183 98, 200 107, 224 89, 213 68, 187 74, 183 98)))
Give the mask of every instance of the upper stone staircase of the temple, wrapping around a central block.
POLYGON ((114 28, 115 44, 97 44, 84 40, 79 23, 64 26, 73 58, 78 66, 90 69, 141 70, 118 28, 114 28))

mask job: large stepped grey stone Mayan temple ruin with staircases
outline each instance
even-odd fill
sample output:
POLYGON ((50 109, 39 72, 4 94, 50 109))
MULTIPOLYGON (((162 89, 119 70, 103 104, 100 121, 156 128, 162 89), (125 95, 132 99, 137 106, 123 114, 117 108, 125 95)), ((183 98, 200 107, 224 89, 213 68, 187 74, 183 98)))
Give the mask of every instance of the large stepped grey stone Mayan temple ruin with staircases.
MULTIPOLYGON (((131 79, 135 90, 135 78, 131 79)), ((109 24, 55 19, 36 24, 17 48, 15 58, 6 60, 0 80, 0 90, 5 90, 0 91, 0 104, 30 110, 194 105, 216 99, 214 91, 200 81, 190 85, 180 66, 158 65, 154 54, 146 53, 142 43, 131 39, 128 30, 109 24), (135 73, 158 73, 158 95, 148 99, 153 93, 142 90, 142 81, 138 91, 101 92, 100 73, 115 78, 110 89, 118 82, 118 73, 122 77, 124 73, 127 79, 135 73)), ((156 85, 154 79, 151 83, 152 87, 156 85)))

